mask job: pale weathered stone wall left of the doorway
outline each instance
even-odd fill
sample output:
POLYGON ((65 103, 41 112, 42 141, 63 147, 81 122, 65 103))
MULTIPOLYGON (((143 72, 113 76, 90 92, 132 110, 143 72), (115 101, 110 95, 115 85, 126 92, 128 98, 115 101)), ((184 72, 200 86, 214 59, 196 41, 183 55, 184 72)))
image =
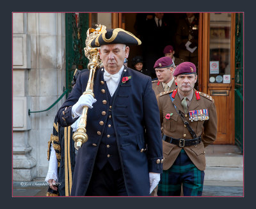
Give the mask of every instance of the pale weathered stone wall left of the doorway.
POLYGON ((47 142, 65 86, 65 13, 13 13, 13 181, 47 174, 47 142))

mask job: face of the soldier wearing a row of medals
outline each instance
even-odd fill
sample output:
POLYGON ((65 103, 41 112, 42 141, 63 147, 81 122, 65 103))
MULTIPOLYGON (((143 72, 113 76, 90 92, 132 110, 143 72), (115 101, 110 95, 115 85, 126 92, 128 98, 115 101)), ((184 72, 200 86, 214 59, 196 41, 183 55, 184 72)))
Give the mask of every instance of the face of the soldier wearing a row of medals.
POLYGON ((174 78, 175 82, 177 82, 177 87, 180 93, 189 94, 193 91, 195 86, 195 82, 197 79, 197 75, 188 74, 188 75, 178 75, 174 78))

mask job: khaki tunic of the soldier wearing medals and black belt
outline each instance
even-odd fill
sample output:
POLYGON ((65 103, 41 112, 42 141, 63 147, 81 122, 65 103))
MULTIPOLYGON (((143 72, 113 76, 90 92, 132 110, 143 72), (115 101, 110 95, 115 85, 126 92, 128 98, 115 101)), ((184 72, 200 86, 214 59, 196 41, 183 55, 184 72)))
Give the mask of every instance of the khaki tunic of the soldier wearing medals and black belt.
MULTIPOLYGON (((204 121, 189 121, 189 113, 185 115, 186 120, 189 122, 190 127, 196 133, 196 137, 202 135, 202 142, 195 146, 186 146, 184 150, 188 154, 189 159, 195 164, 195 166, 200 169, 200 171, 204 171, 205 169, 205 146, 213 143, 216 140, 217 135, 217 112, 216 107, 214 105, 214 100, 205 93, 199 92, 200 99, 196 100, 194 95, 189 104, 188 111, 198 110, 198 109, 208 109, 209 111, 209 120, 204 121), (203 135, 204 133, 204 135, 203 135)), ((184 126, 183 121, 181 120, 179 114, 175 111, 176 105, 177 109, 179 109, 184 114, 184 109, 181 105, 179 94, 175 95, 175 98, 172 100, 170 98, 170 93, 172 91, 166 91, 164 93, 160 93, 157 95, 157 103, 160 112, 160 120, 161 127, 163 128, 163 134, 169 137, 173 137, 175 139, 193 139, 191 134, 188 131, 188 128, 184 126), (165 118, 166 114, 173 113, 169 120, 165 118)), ((179 146, 175 144, 167 143, 163 141, 163 169, 167 170, 172 165, 177 156, 180 153, 179 146)))

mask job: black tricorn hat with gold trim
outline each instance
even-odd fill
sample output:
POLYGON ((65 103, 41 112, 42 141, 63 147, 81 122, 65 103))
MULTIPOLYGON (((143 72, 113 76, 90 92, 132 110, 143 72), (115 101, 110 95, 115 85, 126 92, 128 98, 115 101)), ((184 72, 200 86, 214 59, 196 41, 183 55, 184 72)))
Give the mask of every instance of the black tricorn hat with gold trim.
POLYGON ((141 40, 122 28, 103 30, 89 43, 89 47, 100 47, 106 44, 122 43, 125 45, 141 45, 141 40))

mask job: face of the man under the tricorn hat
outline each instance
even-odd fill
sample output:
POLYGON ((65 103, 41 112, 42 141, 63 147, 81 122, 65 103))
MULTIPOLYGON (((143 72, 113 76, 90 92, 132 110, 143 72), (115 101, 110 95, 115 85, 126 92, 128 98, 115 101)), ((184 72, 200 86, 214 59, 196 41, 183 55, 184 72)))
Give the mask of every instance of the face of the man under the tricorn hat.
POLYGON ((120 43, 102 45, 99 53, 104 69, 109 74, 116 74, 124 65, 124 58, 129 56, 129 47, 120 43))

